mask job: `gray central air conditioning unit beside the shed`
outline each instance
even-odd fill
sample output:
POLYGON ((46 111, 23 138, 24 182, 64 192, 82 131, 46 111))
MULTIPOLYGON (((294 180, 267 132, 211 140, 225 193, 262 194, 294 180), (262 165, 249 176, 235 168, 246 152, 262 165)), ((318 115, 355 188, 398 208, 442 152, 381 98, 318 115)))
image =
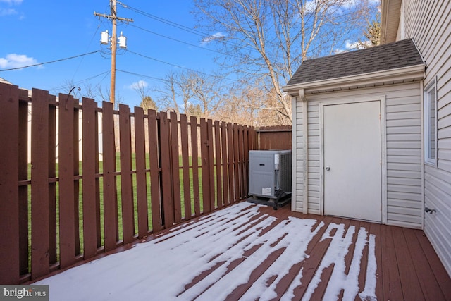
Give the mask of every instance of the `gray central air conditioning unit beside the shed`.
POLYGON ((248 202, 274 209, 280 207, 280 202, 290 201, 291 150, 249 151, 249 195, 253 198, 248 202))

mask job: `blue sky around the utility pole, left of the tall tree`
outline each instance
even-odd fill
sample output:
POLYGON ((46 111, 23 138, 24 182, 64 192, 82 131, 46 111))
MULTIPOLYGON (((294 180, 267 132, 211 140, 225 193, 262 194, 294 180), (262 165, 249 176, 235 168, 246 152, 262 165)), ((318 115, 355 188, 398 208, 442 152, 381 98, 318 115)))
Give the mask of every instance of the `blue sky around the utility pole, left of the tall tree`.
MULTIPOLYGON (((128 51, 118 51, 116 57, 116 99, 137 106, 140 96, 132 85, 140 80, 149 87, 161 85, 171 70, 183 68, 211 73, 214 51, 202 44, 202 37, 168 25, 154 17, 194 28, 192 1, 139 1, 118 4, 118 16, 132 18, 133 23, 119 23, 119 32, 127 37, 128 51), (122 53, 122 54, 121 54, 122 53)), ((101 32, 111 32, 111 22, 94 16, 109 14, 109 0, 36 1, 0 0, 0 78, 25 89, 49 90, 51 94, 68 93, 68 82, 83 88, 110 85, 111 56, 99 43, 101 32), (46 63, 41 66, 5 70, 46 63), (2 71, 3 70, 3 71, 2 71)), ((211 48, 210 48, 211 49, 211 48)), ((83 91, 81 91, 83 93, 83 91)))

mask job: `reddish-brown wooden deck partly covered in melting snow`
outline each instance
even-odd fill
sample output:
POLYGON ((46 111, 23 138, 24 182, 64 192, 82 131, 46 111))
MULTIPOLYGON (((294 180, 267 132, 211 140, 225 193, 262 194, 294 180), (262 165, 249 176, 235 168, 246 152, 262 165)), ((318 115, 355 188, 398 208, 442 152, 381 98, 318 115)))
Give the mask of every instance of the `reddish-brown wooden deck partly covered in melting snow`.
POLYGON ((50 300, 451 300, 423 231, 245 202, 36 284, 50 300))

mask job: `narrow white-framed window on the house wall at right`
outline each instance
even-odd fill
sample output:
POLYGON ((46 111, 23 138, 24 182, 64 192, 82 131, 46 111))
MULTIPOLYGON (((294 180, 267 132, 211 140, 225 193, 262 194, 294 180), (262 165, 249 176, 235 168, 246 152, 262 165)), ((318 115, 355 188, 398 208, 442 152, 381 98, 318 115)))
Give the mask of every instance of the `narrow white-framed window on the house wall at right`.
POLYGON ((437 87, 436 79, 424 90, 424 160, 437 162, 437 87))

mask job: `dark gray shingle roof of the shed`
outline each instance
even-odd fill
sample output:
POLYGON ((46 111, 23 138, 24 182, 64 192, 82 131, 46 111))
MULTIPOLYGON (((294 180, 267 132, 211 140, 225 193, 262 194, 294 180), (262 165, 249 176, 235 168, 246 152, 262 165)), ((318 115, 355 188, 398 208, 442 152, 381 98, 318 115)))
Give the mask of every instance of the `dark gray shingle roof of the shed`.
POLYGON ((304 61, 287 86, 424 64, 412 39, 304 61))

